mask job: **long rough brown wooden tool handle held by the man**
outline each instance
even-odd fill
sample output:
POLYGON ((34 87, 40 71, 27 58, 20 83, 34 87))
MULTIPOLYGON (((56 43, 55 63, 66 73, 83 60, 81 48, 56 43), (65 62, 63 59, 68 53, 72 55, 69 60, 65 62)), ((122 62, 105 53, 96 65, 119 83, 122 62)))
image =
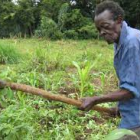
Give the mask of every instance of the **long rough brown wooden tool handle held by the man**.
MULTIPOLYGON (((79 100, 71 99, 71 98, 65 97, 63 95, 52 94, 48 91, 45 91, 45 90, 42 90, 39 88, 35 88, 35 87, 29 86, 29 85, 25 85, 25 84, 10 83, 10 82, 5 82, 5 81, 0 80, 0 87, 1 88, 10 87, 12 90, 22 91, 25 93, 31 93, 33 95, 38 95, 38 96, 41 96, 41 97, 49 99, 49 100, 60 101, 60 102, 66 103, 66 104, 76 106, 76 107, 80 107, 82 104, 82 102, 79 100)), ((109 108, 105 108, 105 107, 94 106, 92 108, 92 110, 112 114, 112 110, 109 108)))

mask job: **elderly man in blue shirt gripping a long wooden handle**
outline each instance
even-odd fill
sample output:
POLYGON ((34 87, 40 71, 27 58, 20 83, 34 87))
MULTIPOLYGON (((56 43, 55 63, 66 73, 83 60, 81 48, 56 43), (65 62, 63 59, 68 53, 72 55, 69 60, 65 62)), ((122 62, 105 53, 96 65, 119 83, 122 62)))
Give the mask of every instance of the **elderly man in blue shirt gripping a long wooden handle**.
POLYGON ((95 10, 95 25, 109 44, 114 43, 114 67, 119 90, 102 96, 82 99, 82 110, 94 105, 119 101, 119 128, 140 127, 140 31, 127 25, 123 9, 115 2, 100 3, 95 10))

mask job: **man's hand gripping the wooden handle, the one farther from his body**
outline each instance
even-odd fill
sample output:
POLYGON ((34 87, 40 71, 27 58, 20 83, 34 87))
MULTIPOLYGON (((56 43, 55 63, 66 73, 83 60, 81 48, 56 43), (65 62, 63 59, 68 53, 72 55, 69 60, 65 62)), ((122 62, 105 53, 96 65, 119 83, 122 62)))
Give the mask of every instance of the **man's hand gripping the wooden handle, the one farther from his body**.
POLYGON ((82 98, 82 105, 79 108, 83 111, 89 111, 94 105, 98 103, 98 96, 82 98))

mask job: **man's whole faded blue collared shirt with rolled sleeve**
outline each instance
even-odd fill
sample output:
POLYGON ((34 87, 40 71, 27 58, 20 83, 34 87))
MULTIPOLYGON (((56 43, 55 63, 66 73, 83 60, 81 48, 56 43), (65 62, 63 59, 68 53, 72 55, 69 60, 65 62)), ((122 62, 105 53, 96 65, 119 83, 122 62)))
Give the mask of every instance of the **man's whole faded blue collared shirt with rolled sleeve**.
POLYGON ((114 44, 114 67, 120 89, 127 89, 133 99, 120 101, 120 128, 140 127, 140 31, 123 21, 118 44, 114 44))

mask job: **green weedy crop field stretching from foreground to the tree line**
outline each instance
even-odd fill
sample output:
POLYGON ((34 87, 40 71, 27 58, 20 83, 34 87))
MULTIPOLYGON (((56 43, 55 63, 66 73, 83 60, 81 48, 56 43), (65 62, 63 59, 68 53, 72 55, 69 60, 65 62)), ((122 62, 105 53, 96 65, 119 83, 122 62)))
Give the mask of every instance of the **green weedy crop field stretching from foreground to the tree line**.
MULTIPOLYGON (((117 89, 113 46, 98 40, 0 40, 0 79, 80 99, 117 89)), ((119 120, 0 90, 1 140, 103 140, 119 120)), ((114 103, 101 104, 112 107, 114 103)))

